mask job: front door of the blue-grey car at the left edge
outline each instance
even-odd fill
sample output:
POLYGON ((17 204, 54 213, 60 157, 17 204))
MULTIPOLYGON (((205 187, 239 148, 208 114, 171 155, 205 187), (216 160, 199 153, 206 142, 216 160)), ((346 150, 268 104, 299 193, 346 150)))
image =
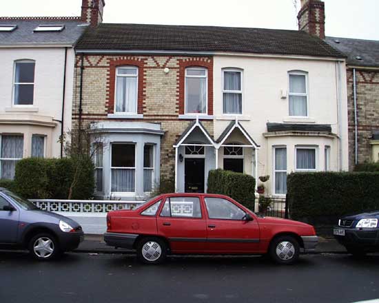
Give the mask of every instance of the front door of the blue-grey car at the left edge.
POLYGON ((13 244, 17 241, 20 212, 3 210, 6 205, 10 203, 0 196, 0 243, 13 244))

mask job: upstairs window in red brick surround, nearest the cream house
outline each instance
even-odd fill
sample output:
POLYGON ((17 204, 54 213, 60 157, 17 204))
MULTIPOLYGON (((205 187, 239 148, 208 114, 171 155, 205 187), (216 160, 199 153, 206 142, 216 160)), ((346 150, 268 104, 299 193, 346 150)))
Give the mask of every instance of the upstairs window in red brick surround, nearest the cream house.
POLYGON ((207 114, 207 69, 185 70, 185 114, 207 114))

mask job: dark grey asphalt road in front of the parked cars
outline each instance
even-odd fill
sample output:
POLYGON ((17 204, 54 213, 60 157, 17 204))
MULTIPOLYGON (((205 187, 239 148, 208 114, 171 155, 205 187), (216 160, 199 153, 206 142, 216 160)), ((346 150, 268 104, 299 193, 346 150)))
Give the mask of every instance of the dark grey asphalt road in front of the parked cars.
POLYGON ((356 302, 379 297, 379 255, 303 255, 291 266, 262 257, 172 257, 158 266, 134 255, 67 253, 34 262, 0 252, 0 302, 356 302))

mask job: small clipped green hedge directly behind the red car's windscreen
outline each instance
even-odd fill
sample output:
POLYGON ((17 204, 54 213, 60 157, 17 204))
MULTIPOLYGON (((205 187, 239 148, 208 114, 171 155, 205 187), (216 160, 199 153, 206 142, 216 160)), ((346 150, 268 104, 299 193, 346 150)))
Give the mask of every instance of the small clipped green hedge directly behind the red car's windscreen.
POLYGON ((249 209, 254 209, 255 182, 253 176, 233 171, 216 169, 209 171, 209 194, 223 194, 240 202, 249 209))

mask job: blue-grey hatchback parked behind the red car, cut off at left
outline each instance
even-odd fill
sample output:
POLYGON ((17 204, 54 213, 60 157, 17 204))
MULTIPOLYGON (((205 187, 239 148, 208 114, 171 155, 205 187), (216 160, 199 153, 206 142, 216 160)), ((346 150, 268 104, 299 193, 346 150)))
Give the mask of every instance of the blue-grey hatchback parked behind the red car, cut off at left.
POLYGON ((0 187, 0 249, 28 249, 37 260, 50 260, 76 249, 82 240, 74 220, 42 211, 0 187))

